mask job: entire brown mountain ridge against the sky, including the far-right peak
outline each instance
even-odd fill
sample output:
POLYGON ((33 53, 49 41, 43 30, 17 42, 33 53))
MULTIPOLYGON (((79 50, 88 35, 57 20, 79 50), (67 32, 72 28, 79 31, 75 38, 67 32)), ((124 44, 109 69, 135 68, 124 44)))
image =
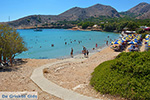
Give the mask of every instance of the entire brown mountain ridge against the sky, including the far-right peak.
POLYGON ((150 18, 150 4, 142 2, 128 11, 119 14, 113 7, 98 3, 87 8, 73 7, 59 15, 30 15, 11 22, 6 22, 6 24, 13 27, 30 27, 56 23, 57 21, 75 21, 99 16, 121 17, 122 15, 128 15, 130 17, 136 16, 137 19, 150 18))

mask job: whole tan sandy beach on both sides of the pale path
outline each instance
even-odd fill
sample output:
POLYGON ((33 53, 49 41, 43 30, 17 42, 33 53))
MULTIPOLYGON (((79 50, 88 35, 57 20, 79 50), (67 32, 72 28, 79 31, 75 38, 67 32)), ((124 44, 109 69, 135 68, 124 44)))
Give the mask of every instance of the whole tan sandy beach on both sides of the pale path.
MULTIPOLYGON (((143 46, 141 48, 144 48, 143 46)), ((62 86, 80 94, 95 97, 99 99, 114 99, 123 100, 123 98, 102 95, 96 92, 89 85, 91 73, 102 62, 114 59, 120 52, 114 52, 110 47, 90 54, 88 58, 83 55, 75 56, 70 59, 70 62, 59 63, 44 69, 44 76, 62 86)), ((23 59, 23 63, 14 66, 10 69, 0 69, 0 91, 34 91, 38 92, 39 100, 61 100, 58 97, 43 92, 33 81, 30 76, 35 68, 38 68, 47 63, 62 61, 63 59, 23 59)))

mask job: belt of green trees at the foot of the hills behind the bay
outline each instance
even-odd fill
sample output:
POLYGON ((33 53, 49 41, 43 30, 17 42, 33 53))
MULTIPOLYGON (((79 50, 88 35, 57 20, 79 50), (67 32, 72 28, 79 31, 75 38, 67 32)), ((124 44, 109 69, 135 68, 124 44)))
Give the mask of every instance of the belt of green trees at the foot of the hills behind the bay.
POLYGON ((129 30, 137 30, 140 26, 150 26, 150 19, 135 19, 129 16, 112 18, 106 16, 91 17, 88 19, 78 19, 77 21, 58 21, 59 25, 72 25, 72 26, 82 26, 86 29, 88 26, 98 25, 103 31, 122 31, 123 28, 128 28, 129 30))

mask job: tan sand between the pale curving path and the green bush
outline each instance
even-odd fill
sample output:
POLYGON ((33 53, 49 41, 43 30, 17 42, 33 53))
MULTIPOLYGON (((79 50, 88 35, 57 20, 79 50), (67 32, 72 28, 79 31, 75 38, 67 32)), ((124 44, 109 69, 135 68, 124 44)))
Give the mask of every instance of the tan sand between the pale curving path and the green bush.
MULTIPOLYGON (((119 53, 120 52, 114 52, 108 47, 89 58, 84 58, 84 61, 79 60, 76 62, 77 59, 73 58, 70 62, 56 64, 50 68, 44 69, 46 71, 44 75, 50 81, 86 96, 104 100, 120 100, 123 98, 102 95, 89 85, 91 73, 94 71, 94 68, 104 61, 114 59, 119 53)), ((83 60, 83 57, 78 59, 83 60)))

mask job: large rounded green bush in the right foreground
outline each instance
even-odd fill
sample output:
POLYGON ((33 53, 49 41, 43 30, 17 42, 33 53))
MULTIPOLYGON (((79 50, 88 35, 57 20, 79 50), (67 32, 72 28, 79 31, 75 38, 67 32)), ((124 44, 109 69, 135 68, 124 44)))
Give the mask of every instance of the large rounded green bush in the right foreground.
POLYGON ((95 68, 90 84, 103 94, 150 99, 150 51, 121 53, 95 68))

